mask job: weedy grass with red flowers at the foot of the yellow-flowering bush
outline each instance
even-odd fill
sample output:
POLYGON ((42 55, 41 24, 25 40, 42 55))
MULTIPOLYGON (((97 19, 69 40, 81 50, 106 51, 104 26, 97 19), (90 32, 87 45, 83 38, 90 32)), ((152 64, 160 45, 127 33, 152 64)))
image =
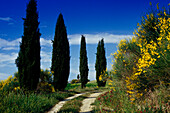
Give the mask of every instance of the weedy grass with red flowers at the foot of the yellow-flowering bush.
POLYGON ((168 112, 169 109, 169 97, 168 91, 165 87, 156 89, 154 92, 148 92, 147 96, 143 99, 133 100, 127 96, 126 85, 124 81, 118 80, 114 77, 108 81, 110 84, 110 91, 100 95, 94 105, 95 113, 163 113, 168 112))

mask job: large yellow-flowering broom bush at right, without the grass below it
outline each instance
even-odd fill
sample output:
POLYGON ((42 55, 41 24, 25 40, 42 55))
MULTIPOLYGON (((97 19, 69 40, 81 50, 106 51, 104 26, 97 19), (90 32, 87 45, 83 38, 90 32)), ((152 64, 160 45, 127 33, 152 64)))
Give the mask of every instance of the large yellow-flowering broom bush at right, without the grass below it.
POLYGON ((132 100, 161 84, 169 87, 169 17, 166 10, 147 14, 132 40, 122 40, 118 45, 112 73, 124 80, 132 100))

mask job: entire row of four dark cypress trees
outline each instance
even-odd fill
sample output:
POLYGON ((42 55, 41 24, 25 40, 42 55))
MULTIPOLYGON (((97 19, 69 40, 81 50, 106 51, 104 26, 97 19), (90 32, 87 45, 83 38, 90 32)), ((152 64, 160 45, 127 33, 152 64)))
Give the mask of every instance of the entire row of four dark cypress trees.
MULTIPOLYGON (((30 0, 26 9, 24 20, 24 34, 20 43, 20 51, 16 59, 18 67, 18 79, 20 87, 27 90, 35 90, 40 78, 40 36, 37 12, 37 1, 30 0)), ((53 43, 52 66, 54 73, 53 85, 55 89, 64 90, 70 73, 70 49, 67 31, 62 14, 59 15, 53 43)), ((80 48, 80 77, 81 87, 88 82, 86 42, 82 35, 80 48)), ((96 78, 98 86, 104 86, 98 80, 99 73, 106 69, 104 41, 99 41, 96 55, 96 78), (100 46, 100 47, 99 47, 100 46), (99 49, 99 50, 98 50, 99 49), (103 60, 104 59, 104 60, 103 60), (101 61, 99 61, 101 60, 101 61), (104 67, 103 67, 104 66, 104 67), (102 85, 101 85, 102 84, 102 85)))

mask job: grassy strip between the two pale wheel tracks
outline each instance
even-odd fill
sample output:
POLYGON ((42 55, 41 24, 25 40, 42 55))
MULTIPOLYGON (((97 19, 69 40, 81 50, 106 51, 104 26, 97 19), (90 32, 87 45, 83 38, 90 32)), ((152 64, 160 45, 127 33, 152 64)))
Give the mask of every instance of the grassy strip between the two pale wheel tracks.
POLYGON ((82 106, 82 101, 89 95, 90 93, 87 93, 68 101, 58 113, 79 113, 80 107, 82 106))

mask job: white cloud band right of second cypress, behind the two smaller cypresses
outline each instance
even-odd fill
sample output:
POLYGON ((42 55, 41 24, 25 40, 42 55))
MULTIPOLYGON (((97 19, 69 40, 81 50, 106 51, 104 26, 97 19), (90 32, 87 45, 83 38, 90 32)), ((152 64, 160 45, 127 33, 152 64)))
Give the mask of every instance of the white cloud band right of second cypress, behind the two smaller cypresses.
MULTIPOLYGON (((105 43, 119 43, 121 39, 132 38, 133 35, 114 35, 109 33, 84 34, 86 44, 97 44, 99 40, 104 38, 105 43)), ((79 45, 81 34, 68 35, 70 44, 79 45)))

